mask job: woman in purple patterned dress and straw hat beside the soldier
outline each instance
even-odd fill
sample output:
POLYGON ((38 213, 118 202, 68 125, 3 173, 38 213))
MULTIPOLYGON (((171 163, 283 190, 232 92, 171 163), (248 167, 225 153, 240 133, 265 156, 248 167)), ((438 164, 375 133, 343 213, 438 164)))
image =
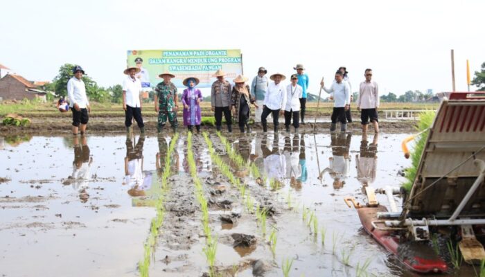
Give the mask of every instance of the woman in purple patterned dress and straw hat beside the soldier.
POLYGON ((182 82, 187 88, 182 94, 182 104, 184 104, 184 125, 187 126, 188 131, 192 132, 193 126, 200 132, 200 101, 202 101, 202 93, 200 89, 195 89, 199 84, 199 79, 195 77, 188 77, 182 82))

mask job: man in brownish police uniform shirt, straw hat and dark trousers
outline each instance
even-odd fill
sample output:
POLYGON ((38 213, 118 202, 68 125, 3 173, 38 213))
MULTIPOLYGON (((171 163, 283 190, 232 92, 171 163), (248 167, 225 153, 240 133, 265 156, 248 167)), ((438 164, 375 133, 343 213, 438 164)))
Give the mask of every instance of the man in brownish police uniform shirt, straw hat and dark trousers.
POLYGON ((211 88, 211 110, 214 111, 215 128, 220 131, 222 125, 222 113, 226 119, 227 131, 232 132, 231 121, 231 84, 224 80, 226 73, 218 69, 213 77, 218 78, 211 88))

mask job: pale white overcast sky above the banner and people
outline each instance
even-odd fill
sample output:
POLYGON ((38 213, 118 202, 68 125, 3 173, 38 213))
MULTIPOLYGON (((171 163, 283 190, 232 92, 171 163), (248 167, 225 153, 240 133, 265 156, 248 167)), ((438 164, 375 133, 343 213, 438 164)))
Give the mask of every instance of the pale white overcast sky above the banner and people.
POLYGON ((457 90, 485 62, 485 1, 5 1, 0 64, 52 80, 80 64, 100 85, 121 83, 129 49, 240 48, 245 75, 290 74, 302 63, 310 91, 346 66, 355 84, 373 69, 381 93, 457 90))

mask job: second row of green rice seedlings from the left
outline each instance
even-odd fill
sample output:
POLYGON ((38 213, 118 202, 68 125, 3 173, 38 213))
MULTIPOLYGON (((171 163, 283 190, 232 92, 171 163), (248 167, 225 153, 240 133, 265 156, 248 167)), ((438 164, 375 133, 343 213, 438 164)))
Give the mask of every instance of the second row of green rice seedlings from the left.
POLYGON ((217 252, 218 242, 217 238, 213 238, 211 234, 211 227, 209 226, 209 204, 204 195, 204 188, 202 187, 202 181, 197 177, 197 168, 195 165, 193 150, 192 150, 192 133, 187 134, 187 163, 191 172, 192 180, 195 186, 195 197, 200 204, 200 210, 202 211, 202 229, 206 236, 206 245, 202 251, 206 256, 207 263, 209 264, 209 276, 215 276, 215 254, 217 252))

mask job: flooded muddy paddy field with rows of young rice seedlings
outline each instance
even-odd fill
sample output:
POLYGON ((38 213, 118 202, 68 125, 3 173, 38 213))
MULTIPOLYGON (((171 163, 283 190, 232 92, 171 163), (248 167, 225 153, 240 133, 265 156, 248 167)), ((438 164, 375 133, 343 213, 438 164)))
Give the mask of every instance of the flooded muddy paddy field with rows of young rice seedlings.
POLYGON ((417 276, 343 201, 407 135, 0 138, 0 276, 417 276))

